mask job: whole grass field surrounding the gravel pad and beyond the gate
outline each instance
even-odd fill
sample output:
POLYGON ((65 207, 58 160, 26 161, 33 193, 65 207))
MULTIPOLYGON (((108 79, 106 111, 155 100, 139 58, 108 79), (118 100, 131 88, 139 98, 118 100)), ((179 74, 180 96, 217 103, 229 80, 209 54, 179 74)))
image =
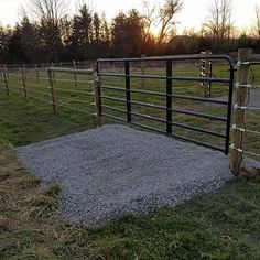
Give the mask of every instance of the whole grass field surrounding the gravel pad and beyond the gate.
MULTIPOLYGON (((221 69, 225 71, 223 67, 218 69, 219 75, 221 69)), ((56 85, 57 91, 58 87, 91 91, 86 83, 76 87, 73 75, 56 77, 72 80, 56 85)), ((78 79, 89 80, 83 76, 78 79)), ((53 115, 51 104, 46 102, 50 100, 48 90, 40 90, 35 86, 36 79, 30 79, 31 84, 28 84, 29 102, 22 96, 21 79, 10 76, 9 80, 10 88, 13 85, 15 89, 10 91, 9 97, 6 96, 4 85, 0 84, 0 259, 260 259, 259 178, 232 180, 218 193, 195 197, 173 209, 124 217, 98 229, 63 219, 57 212, 59 187, 53 184, 45 189, 40 188, 40 180, 23 169, 11 147, 94 128, 91 115, 71 109, 91 113, 91 97, 61 90, 59 96, 75 100, 66 100, 68 105, 58 107, 57 115, 53 115), (37 97, 46 100, 33 99, 36 91, 37 97), (78 99, 86 105, 76 101, 78 99)), ((259 77, 257 80, 259 84, 259 77)), ((161 84, 163 87, 164 84, 161 84)), ((41 79, 40 86, 46 85, 46 80, 41 79)), ((118 83, 118 86, 121 85, 118 83)), ((158 87, 154 85, 152 90, 158 87)), ((202 95, 199 88, 197 93, 181 90, 202 95)), ((216 91, 214 96, 225 94, 216 91)), ((65 99, 59 100, 65 102, 65 99)), ((163 102, 154 97, 145 101, 163 102)), ((111 105, 120 107, 116 102, 111 105)), ((189 107, 185 102, 176 106, 207 109, 216 115, 223 112, 218 107, 205 108, 204 105, 189 107)), ((149 109, 136 109, 152 113, 149 109)), ((182 116, 178 119, 194 126, 204 123, 182 116)), ((251 128, 259 130, 259 122, 258 116, 248 115, 251 128)), ((204 126, 221 131, 220 126, 213 122, 204 126)), ((259 152, 256 137, 248 137, 247 145, 259 152)))

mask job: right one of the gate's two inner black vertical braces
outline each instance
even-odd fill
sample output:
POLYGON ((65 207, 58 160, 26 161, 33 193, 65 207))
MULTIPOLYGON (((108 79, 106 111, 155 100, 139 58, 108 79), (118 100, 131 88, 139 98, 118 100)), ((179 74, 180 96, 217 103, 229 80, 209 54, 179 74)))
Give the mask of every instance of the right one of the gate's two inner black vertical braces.
POLYGON ((172 61, 166 61, 166 133, 172 133, 172 61))

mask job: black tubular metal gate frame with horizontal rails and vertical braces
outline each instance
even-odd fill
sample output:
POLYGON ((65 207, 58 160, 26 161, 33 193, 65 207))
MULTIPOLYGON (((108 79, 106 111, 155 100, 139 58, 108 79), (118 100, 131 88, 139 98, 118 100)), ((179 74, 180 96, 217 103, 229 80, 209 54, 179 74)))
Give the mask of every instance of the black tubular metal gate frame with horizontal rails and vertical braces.
POLYGON ((234 76, 235 76, 235 64, 232 62, 232 59, 228 56, 228 55, 209 55, 209 56, 205 56, 205 55, 176 55, 176 56, 155 56, 155 57, 141 57, 141 58, 100 58, 97 61, 97 88, 98 88, 98 106, 99 108, 97 109, 98 115, 97 118, 100 118, 101 116, 104 117, 108 117, 115 120, 119 120, 119 121, 123 121, 127 123, 131 123, 133 126, 138 126, 138 127, 142 127, 142 128, 147 128, 149 130, 153 130, 156 132, 161 132, 161 133, 166 133, 170 134, 174 138, 184 140, 184 141, 188 141, 188 142, 193 142, 203 147, 207 147, 214 150, 218 150, 224 152, 225 154, 228 154, 229 152, 229 145, 230 145, 230 124, 231 124, 231 111, 232 111, 232 90, 234 90, 234 76), (215 83, 227 83, 229 86, 229 90, 228 90, 228 100, 227 101, 223 101, 223 100, 214 100, 214 99, 208 99, 208 98, 201 98, 201 97, 193 97, 193 96, 185 96, 185 95, 173 95, 172 90, 174 89, 174 87, 172 86, 172 82, 175 80, 183 80, 183 82, 201 82, 202 78, 201 77, 174 77, 172 76, 172 68, 173 68, 173 62, 177 62, 177 61, 201 61, 201 59, 210 59, 210 61, 226 61, 227 64, 229 65, 229 77, 228 78, 213 78, 213 77, 205 77, 204 82, 207 82, 209 84, 212 84, 213 82, 215 83), (131 75, 130 74, 130 63, 132 62, 156 62, 156 61, 162 61, 166 63, 166 76, 153 76, 153 75, 131 75), (101 63, 123 63, 124 64, 124 74, 118 74, 118 73, 100 73, 99 69, 99 65, 101 63), (108 87, 108 86, 102 86, 100 78, 101 76, 112 76, 112 77, 123 77, 126 78, 126 85, 124 88, 120 88, 120 87, 108 87), (140 78, 140 79, 144 79, 144 78, 154 78, 154 79, 162 79, 162 80, 166 80, 166 94, 160 94, 160 93, 154 93, 154 91, 148 91, 148 90, 137 90, 137 89, 131 89, 131 83, 130 79, 131 78, 140 78), (109 97, 106 95, 101 94, 101 88, 107 88, 107 89, 113 89, 113 90, 120 90, 120 91, 126 91, 126 99, 122 98, 115 98, 115 97, 109 97), (148 94, 148 95, 158 95, 158 96, 164 96, 166 97, 166 106, 162 107, 162 106, 156 106, 156 105, 151 105, 151 104, 145 104, 145 102, 140 102, 140 101, 132 101, 131 100, 131 93, 140 93, 140 94, 148 94), (193 111, 187 111, 187 110, 182 110, 182 109, 173 109, 172 108, 172 98, 181 98, 181 99, 186 99, 186 100, 195 100, 195 101, 204 101, 204 102, 214 102, 214 104, 220 104, 220 105, 226 105, 227 106, 227 117, 223 118, 223 117, 217 117, 217 116, 209 116, 209 115, 205 115, 205 113, 201 113, 201 112, 193 112, 193 111), (110 106, 104 106, 101 102, 101 99, 110 99, 110 100, 116 100, 116 101, 121 101, 127 104, 127 111, 122 110, 122 109, 118 109, 118 108, 113 108, 110 106), (162 109, 166 111, 166 120, 160 119, 160 118, 154 118, 154 117, 150 117, 150 116, 145 116, 145 115, 141 115, 141 113, 136 113, 131 111, 131 104, 133 105, 140 105, 140 106, 147 106, 147 107, 152 107, 152 108, 156 108, 156 109, 162 109), (127 120, 122 119, 122 118, 118 118, 108 113, 104 113, 102 112, 102 108, 107 108, 107 109, 111 109, 113 111, 119 111, 119 112, 123 112, 127 113, 127 120), (191 115, 191 116, 196 116, 196 117, 204 117, 204 118, 210 118, 213 120, 220 120, 220 121, 225 121, 226 122, 226 133, 225 134, 220 134, 214 131, 209 131, 209 130, 204 130, 202 128, 196 128, 196 127, 191 127, 191 126, 186 126, 186 124, 182 124, 182 123, 175 123, 172 121, 172 113, 176 111, 176 112, 181 112, 181 113, 186 113, 186 115, 191 115), (164 122, 166 124, 166 131, 161 131, 159 129, 152 128, 152 127, 148 127, 141 123, 137 123, 137 122, 132 122, 131 120, 131 116, 138 116, 141 118, 145 118, 145 119, 151 119, 153 121, 159 121, 159 122, 164 122), (194 130, 194 131, 198 131, 198 132, 204 132, 204 133, 208 133, 212 136, 217 136, 217 137, 221 137, 225 138, 225 148, 219 148, 209 143, 205 143, 198 140, 194 140, 191 138, 186 138, 186 137, 182 137, 182 136, 177 136, 175 133, 172 133, 172 126, 177 126, 181 128, 186 128, 189 130, 194 130))

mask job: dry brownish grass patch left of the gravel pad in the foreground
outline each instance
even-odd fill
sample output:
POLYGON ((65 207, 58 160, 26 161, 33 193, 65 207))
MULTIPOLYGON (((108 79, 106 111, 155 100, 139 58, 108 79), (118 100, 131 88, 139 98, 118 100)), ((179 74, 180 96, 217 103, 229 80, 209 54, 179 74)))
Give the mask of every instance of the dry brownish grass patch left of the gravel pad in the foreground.
POLYGON ((59 186, 41 188, 11 152, 0 153, 0 259, 87 258, 82 228, 57 212, 59 186))

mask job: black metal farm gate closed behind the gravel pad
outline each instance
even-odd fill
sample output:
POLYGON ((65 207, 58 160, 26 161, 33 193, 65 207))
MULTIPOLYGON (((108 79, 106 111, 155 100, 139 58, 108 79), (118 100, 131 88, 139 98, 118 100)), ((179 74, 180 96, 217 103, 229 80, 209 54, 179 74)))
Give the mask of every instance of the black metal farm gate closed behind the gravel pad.
MULTIPOLYGON (((199 145, 208 147, 221 152, 225 152, 228 154, 229 150, 229 132, 230 132, 230 118, 231 118, 231 105, 232 105, 232 87, 234 87, 234 73, 235 73, 235 66, 229 56, 226 55, 210 55, 210 56, 205 56, 205 55, 180 55, 180 56, 161 56, 161 57, 142 57, 142 58, 106 58, 106 59, 99 59, 97 62, 97 75, 100 80, 100 115, 107 118, 111 118, 115 120, 128 122, 138 127, 142 127, 149 130, 154 130, 158 132, 166 133, 172 137, 175 137, 177 139, 193 142, 199 145), (174 66, 178 62, 192 62, 196 63, 201 59, 210 59, 210 62, 219 62, 219 63, 226 63, 228 66, 228 76, 227 77, 204 77, 203 80, 206 83, 220 83, 225 84, 228 87, 228 98, 227 100, 223 99, 217 99, 217 98, 204 98, 199 96, 191 96, 191 95, 180 95, 174 93, 174 83, 187 83, 189 84, 191 82, 199 83, 202 82, 201 76, 176 76, 174 75, 174 66), (131 67, 136 66, 137 64, 140 64, 142 66, 143 63, 160 63, 162 69, 164 71, 165 75, 153 75, 153 74, 138 74, 138 73, 131 73, 131 67), (115 69, 117 67, 118 69, 115 69), (105 69, 106 68, 106 69, 105 69), (115 72, 116 71, 116 72, 115 72), (118 72, 119 71, 119 72, 118 72), (115 86, 116 84, 110 83, 110 84, 102 84, 102 78, 104 77, 110 77, 113 78, 116 82, 118 78, 123 79, 123 86, 115 86), (148 89, 133 89, 131 86, 131 82, 133 79, 140 79, 140 80, 164 80, 165 82, 165 90, 163 93, 160 91, 151 91, 148 89), (117 95, 106 95, 105 90, 112 90, 113 93, 123 93, 124 97, 119 98, 117 95), (165 98, 165 104, 163 106, 145 102, 145 101, 137 101, 132 99, 133 94, 140 94, 144 96, 154 96, 154 97, 164 97, 165 98), (109 100, 109 105, 105 105, 104 100, 109 100), (187 109, 180 109, 180 108, 174 108, 174 100, 181 99, 181 100, 193 100, 196 102, 203 102, 203 104, 215 104, 217 106, 221 106, 225 108, 225 117, 216 116, 216 115, 209 115, 205 112, 197 112, 194 111, 193 109, 187 110, 187 109), (120 102, 122 108, 117 108, 112 106, 113 102, 120 102), (132 106, 137 105, 140 107, 147 107, 150 109, 159 109, 161 111, 165 111, 164 118, 159 118, 159 117, 152 117, 149 115, 140 113, 137 111, 132 110, 132 106), (106 111, 104 111, 106 110, 106 111), (111 115, 108 111, 117 111, 119 113, 126 115, 126 117, 116 117, 111 115), (216 120, 219 122, 225 123, 225 132, 217 132, 213 131, 209 129, 204 129, 201 127, 194 127, 194 126, 188 126, 185 123, 180 123, 173 120, 173 115, 175 113, 182 113, 182 115, 188 115, 193 117, 199 117, 199 118, 205 118, 209 120, 216 120), (154 128, 153 126, 148 126, 143 124, 140 122, 136 122, 132 119, 132 116, 148 119, 151 121, 160 122, 165 126, 164 130, 160 130, 159 128, 154 128), (205 141, 196 140, 194 138, 187 138, 182 134, 176 134, 173 131, 173 127, 178 127, 183 128, 186 130, 192 130, 195 132, 199 133, 205 133, 209 136, 214 136, 217 138, 220 138, 224 140, 224 145, 214 145, 205 141)), ((198 68, 198 74, 199 74, 199 68, 198 68)))

